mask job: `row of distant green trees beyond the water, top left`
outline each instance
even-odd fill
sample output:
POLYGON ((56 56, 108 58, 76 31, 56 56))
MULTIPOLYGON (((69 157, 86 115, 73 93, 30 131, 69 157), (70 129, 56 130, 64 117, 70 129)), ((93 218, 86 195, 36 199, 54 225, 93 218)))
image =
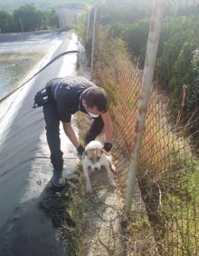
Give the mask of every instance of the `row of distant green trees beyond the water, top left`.
POLYGON ((23 5, 12 14, 0 11, 2 33, 29 32, 57 27, 59 27, 59 20, 54 10, 41 11, 35 5, 23 5))

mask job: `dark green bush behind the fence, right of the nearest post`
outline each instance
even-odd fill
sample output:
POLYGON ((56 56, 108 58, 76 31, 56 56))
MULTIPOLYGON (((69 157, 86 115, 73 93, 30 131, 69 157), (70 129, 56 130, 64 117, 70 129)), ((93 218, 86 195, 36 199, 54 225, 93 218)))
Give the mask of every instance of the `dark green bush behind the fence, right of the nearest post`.
POLYGON ((156 78, 171 96, 172 111, 181 107, 185 119, 198 105, 198 68, 192 62, 198 42, 199 18, 182 16, 165 21, 156 78))

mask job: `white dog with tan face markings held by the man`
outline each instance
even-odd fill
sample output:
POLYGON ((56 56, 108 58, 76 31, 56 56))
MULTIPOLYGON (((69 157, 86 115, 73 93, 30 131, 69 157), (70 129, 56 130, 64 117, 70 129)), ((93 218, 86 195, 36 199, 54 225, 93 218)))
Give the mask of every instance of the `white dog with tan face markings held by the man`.
POLYGON ((89 171, 98 172, 101 166, 104 166, 109 183, 113 188, 117 188, 116 183, 113 181, 111 171, 115 172, 115 166, 111 160, 111 156, 103 150, 103 146, 98 141, 91 141, 85 148, 85 152, 82 155, 82 166, 83 172, 86 180, 86 190, 87 192, 92 192, 90 184, 89 171))

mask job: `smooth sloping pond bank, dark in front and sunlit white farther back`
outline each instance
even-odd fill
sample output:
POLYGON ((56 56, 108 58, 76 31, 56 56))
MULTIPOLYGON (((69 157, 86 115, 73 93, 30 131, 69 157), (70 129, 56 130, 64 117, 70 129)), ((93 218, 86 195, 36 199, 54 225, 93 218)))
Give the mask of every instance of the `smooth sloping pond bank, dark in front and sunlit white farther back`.
MULTIPOLYGON (((77 38, 59 34, 62 44, 52 54, 76 50, 77 38)), ((45 59, 46 62, 47 59, 45 59)), ((33 109, 33 96, 50 79, 74 74, 76 56, 67 55, 50 65, 33 82, 7 101, 0 112, 0 255, 71 255, 68 245, 59 239, 59 229, 41 210, 46 188, 51 186, 52 167, 45 141, 42 108, 33 109)), ((63 133, 62 133, 63 136, 63 133)), ((71 143, 62 140, 66 172, 74 170, 76 153, 71 143)), ((67 174, 67 173, 65 173, 67 174)))

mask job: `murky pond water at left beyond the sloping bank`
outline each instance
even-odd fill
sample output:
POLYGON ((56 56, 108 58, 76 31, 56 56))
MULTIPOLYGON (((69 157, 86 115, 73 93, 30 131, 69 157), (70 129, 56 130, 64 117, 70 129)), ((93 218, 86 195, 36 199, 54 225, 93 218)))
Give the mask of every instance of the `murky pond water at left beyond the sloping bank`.
POLYGON ((0 34, 0 99, 47 54, 57 32, 0 34))

